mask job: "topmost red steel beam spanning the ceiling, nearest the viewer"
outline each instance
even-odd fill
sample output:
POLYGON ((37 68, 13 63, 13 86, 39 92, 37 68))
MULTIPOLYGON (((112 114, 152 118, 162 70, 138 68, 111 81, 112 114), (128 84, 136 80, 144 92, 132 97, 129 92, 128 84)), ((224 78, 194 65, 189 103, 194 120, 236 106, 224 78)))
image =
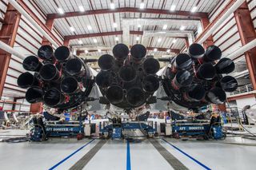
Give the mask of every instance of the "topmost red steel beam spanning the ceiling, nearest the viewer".
POLYGON ((117 8, 114 10, 111 9, 102 9, 102 10, 86 10, 84 12, 68 12, 65 14, 48 14, 47 18, 70 18, 78 17, 84 15, 93 15, 93 14, 113 14, 113 13, 147 13, 147 14, 172 14, 180 15, 188 18, 203 18, 207 17, 207 13, 191 13, 190 11, 170 11, 170 10, 158 10, 158 9, 139 9, 132 7, 117 8))

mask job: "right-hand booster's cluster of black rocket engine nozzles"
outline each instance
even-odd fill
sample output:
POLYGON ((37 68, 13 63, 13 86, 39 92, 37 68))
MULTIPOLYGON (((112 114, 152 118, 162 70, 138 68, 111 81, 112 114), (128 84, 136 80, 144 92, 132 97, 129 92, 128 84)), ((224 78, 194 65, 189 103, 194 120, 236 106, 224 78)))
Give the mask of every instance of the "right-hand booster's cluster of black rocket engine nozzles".
POLYGON ((168 97, 177 105, 188 109, 198 109, 209 104, 223 104, 226 92, 233 92, 238 81, 231 76, 223 76, 234 71, 234 62, 222 58, 218 46, 211 45, 206 50, 199 44, 190 45, 187 53, 179 53, 170 61, 170 67, 162 78, 162 85, 168 97), (218 61, 216 64, 215 61, 218 61))

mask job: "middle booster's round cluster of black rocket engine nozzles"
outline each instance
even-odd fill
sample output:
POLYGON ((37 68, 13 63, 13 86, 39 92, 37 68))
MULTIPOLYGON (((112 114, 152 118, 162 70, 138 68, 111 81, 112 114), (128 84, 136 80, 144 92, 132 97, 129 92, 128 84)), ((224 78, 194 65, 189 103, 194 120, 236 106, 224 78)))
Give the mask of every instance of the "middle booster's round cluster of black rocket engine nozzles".
POLYGON ((115 45, 113 54, 114 57, 105 54, 98 59, 101 71, 96 83, 103 95, 100 102, 122 109, 156 102, 153 93, 159 87, 155 74, 160 68, 159 62, 153 57, 145 57, 146 48, 139 44, 133 45, 130 52, 124 44, 115 45))

